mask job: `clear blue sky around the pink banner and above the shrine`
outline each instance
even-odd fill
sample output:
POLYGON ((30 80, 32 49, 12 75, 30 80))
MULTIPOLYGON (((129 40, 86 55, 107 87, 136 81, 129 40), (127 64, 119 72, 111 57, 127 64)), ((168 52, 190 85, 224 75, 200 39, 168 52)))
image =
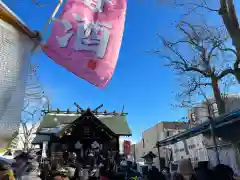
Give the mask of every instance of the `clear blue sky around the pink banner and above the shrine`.
MULTIPOLYGON (((39 8, 30 0, 5 0, 6 4, 31 28, 41 30, 51 10, 39 8)), ((106 89, 97 89, 55 64, 42 52, 32 60, 40 65, 39 76, 53 108, 97 107, 121 110, 129 113, 128 121, 137 141, 141 132, 159 121, 176 121, 185 116, 185 110, 172 109, 175 103, 173 91, 178 82, 171 71, 161 65, 161 60, 145 51, 158 46, 156 33, 175 36, 170 24, 179 17, 179 12, 157 5, 156 1, 128 2, 123 43, 112 81, 106 89)))

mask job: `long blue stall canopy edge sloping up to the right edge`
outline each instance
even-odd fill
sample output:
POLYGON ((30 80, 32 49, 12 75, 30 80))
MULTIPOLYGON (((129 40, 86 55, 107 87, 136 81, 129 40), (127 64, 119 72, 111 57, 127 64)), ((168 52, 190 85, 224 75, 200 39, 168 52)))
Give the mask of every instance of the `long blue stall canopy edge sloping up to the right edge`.
MULTIPOLYGON (((214 127, 217 129, 224 125, 231 124, 231 123, 234 123, 239 120, 240 120, 240 110, 237 110, 237 111, 233 111, 228 114, 221 115, 221 116, 215 118, 213 120, 213 122, 214 122, 214 127)), ((171 136, 162 141, 158 141, 156 146, 170 145, 170 144, 176 143, 178 141, 181 141, 183 139, 188 139, 190 137, 193 137, 193 136, 196 136, 196 135, 208 132, 208 131, 210 131, 210 121, 209 120, 205 121, 204 123, 202 123, 196 127, 193 127, 184 132, 178 133, 175 136, 171 136)))

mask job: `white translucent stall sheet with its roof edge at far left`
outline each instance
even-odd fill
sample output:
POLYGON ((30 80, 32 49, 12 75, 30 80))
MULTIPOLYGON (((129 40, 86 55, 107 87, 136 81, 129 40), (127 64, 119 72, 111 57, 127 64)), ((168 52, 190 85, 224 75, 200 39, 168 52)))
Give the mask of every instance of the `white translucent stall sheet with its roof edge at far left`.
POLYGON ((19 129, 30 56, 40 37, 2 1, 0 16, 0 150, 4 151, 7 141, 19 129))

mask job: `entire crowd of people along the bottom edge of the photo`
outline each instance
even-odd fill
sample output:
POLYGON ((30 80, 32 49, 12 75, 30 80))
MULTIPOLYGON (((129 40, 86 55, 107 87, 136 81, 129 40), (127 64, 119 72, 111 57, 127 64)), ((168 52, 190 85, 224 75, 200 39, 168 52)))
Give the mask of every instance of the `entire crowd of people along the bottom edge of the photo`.
POLYGON ((77 156, 74 154, 65 162, 65 167, 56 168, 54 172, 49 172, 49 176, 44 175, 37 156, 21 153, 15 160, 12 165, 0 163, 0 180, 237 180, 232 168, 227 165, 218 164, 210 169, 205 162, 193 168, 189 159, 181 160, 175 172, 170 172, 167 167, 159 170, 152 165, 140 171, 136 163, 128 160, 122 160, 116 169, 111 169, 111 163, 106 161, 91 168, 85 178, 79 176, 82 169, 78 169, 77 156))

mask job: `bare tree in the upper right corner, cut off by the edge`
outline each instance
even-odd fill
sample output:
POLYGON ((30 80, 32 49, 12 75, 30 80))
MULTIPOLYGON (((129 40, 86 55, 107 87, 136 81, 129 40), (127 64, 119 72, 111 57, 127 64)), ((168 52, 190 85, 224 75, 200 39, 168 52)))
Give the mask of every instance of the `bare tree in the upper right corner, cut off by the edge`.
MULTIPOLYGON (((174 5, 174 7, 184 8, 186 12, 183 14, 184 17, 190 14, 192 15, 193 13, 207 16, 207 12, 217 13, 220 16, 223 25, 232 41, 232 47, 225 48, 225 51, 228 51, 235 56, 235 60, 232 62, 231 73, 240 83, 240 24, 234 5, 234 0, 172 0, 170 2, 174 5)), ((237 3, 237 1, 235 1, 235 3, 237 3)))

